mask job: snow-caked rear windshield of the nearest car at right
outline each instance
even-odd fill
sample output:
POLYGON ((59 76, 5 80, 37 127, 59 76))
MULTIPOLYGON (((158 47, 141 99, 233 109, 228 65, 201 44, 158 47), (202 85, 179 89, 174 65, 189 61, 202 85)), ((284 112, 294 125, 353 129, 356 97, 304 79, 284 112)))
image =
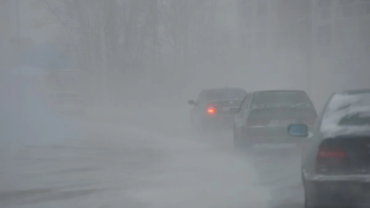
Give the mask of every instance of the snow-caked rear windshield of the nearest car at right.
POLYGON ((370 125, 370 94, 337 94, 329 102, 322 125, 370 125))

